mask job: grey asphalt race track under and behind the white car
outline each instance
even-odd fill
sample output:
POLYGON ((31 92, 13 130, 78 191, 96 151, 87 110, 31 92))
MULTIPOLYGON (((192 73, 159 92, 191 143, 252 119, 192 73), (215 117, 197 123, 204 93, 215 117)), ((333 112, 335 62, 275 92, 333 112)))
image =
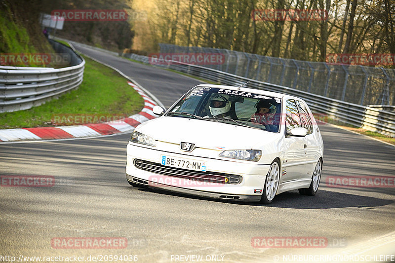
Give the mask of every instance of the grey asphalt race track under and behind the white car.
MULTIPOLYGON (((76 48, 132 77, 166 107, 201 83, 76 48)), ((0 188, 0 256, 83 256, 92 262, 89 255, 137 255, 138 262, 193 262, 187 257, 200 255, 207 262, 291 262, 282 257, 394 255, 395 188, 333 188, 326 178, 394 176, 395 147, 332 125, 320 130, 325 152, 317 195, 285 192, 271 205, 132 188, 125 180, 127 134, 0 144, 0 175, 55 178, 53 187, 0 188), (257 236, 325 237, 329 248, 255 248, 251 240, 257 236), (53 248, 51 240, 58 237, 124 237, 128 243, 118 249, 53 248)))

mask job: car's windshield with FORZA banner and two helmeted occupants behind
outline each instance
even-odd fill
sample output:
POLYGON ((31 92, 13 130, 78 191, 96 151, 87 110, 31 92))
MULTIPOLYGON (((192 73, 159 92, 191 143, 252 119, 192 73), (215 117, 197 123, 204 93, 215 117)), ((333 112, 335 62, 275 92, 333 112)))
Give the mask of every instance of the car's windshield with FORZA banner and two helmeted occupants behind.
POLYGON ((167 116, 198 118, 278 132, 281 99, 241 90, 197 87, 167 116))

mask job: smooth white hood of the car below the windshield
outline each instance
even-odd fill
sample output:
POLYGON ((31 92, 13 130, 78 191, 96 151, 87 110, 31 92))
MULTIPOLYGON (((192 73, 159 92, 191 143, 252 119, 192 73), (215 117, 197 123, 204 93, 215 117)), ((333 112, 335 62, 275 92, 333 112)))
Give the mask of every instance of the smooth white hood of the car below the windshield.
POLYGON ((184 117, 163 116, 140 124, 136 131, 155 140, 214 150, 254 149, 260 142, 268 142, 277 134, 264 130, 184 117))

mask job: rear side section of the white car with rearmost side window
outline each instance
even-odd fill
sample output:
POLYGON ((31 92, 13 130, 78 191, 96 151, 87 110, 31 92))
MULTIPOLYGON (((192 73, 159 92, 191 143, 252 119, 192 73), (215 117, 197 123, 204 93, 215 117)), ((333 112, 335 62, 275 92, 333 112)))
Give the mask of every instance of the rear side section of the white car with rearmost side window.
MULTIPOLYGON (((309 179, 312 177, 314 169, 316 167, 316 162, 320 156, 320 146, 316 140, 315 132, 313 129, 312 113, 305 104, 305 102, 297 100, 296 101, 299 109, 300 120, 302 127, 307 129, 307 135, 305 137, 306 141, 306 173, 302 175, 302 178, 309 179)), ((313 117, 314 118, 314 117, 313 117)))

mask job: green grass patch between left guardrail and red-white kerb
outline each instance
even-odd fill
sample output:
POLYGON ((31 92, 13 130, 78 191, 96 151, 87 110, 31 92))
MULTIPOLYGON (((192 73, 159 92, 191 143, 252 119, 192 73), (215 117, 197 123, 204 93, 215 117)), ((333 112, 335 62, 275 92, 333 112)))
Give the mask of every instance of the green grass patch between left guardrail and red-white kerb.
POLYGON ((29 110, 0 113, 0 129, 54 126, 52 120, 62 114, 129 116, 141 111, 144 100, 124 77, 84 59, 84 77, 78 89, 29 110))

